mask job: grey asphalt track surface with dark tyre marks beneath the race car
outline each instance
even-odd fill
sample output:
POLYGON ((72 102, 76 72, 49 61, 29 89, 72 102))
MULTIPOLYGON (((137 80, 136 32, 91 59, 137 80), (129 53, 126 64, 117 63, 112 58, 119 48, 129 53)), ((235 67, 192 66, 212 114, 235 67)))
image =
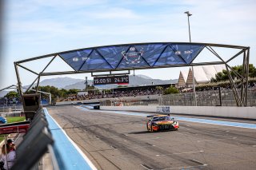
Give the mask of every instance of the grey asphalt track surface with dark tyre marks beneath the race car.
POLYGON ((179 121, 178 131, 147 132, 146 117, 47 109, 98 169, 256 169, 253 128, 179 121))

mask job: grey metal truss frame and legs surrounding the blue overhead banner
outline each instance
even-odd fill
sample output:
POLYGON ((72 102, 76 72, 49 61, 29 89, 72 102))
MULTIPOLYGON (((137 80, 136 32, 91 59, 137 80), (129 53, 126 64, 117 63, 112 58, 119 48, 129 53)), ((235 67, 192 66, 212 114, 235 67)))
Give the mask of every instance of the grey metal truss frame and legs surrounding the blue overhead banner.
MULTIPOLYGON (((159 43, 159 42, 156 42, 159 43)), ((165 42, 166 43, 166 42, 165 42)), ((237 106, 243 107, 246 106, 247 104, 247 88, 248 88, 248 77, 249 77, 249 57, 250 57, 250 47, 247 46, 238 46, 238 45, 222 45, 222 44, 209 44, 209 43, 188 43, 188 42, 168 42, 168 43, 174 43, 174 44, 179 44, 179 45, 205 45, 205 48, 208 49, 211 53, 213 53, 220 61, 212 61, 212 62, 199 62, 199 63, 192 63, 193 61, 190 62, 190 64, 177 64, 177 65, 162 65, 162 66, 154 66, 150 67, 141 67, 141 68, 134 68, 134 69, 159 69, 159 68, 170 68, 170 67, 184 67, 184 66, 196 66, 196 65, 226 65, 226 71, 228 73, 229 81, 230 81, 230 86, 231 89, 234 92, 234 98, 237 103, 237 106), (222 57, 213 49, 213 47, 222 47, 222 48, 230 48, 230 49, 239 49, 240 51, 236 53, 234 56, 230 57, 227 61, 224 61, 222 57), (230 61, 232 61, 234 58, 238 57, 239 55, 243 54, 243 62, 242 62, 242 73, 237 73, 232 67, 228 64, 230 61), (234 80, 235 77, 231 76, 231 73, 234 73, 235 77, 237 80, 234 80), (240 92, 238 90, 240 89, 240 92)), ((154 44, 154 42, 150 43, 137 43, 137 44, 125 44, 125 45, 146 45, 146 44, 154 44)), ((98 46, 98 47, 93 47, 90 49, 97 50, 99 47, 109 47, 113 45, 107 45, 107 46, 98 46)), ((119 46, 119 45, 114 45, 114 46, 119 46)), ((86 48, 89 49, 89 48, 86 48)), ((81 49, 75 49, 75 50, 81 50, 81 49)), ((14 68, 16 72, 16 77, 18 80, 18 91, 20 94, 22 94, 22 83, 19 77, 18 73, 18 67, 21 67, 22 69, 26 69, 27 71, 34 73, 38 77, 33 81, 33 83, 30 85, 29 88, 27 88, 26 92, 31 89, 31 87, 36 83, 36 93, 38 92, 38 86, 39 86, 39 81, 40 77, 43 76, 53 76, 53 75, 63 75, 63 74, 76 74, 76 73, 97 73, 97 72, 104 72, 104 71, 109 71, 109 72, 114 72, 114 71, 122 71, 122 70, 127 70, 127 69, 100 69, 100 70, 75 70, 72 65, 67 63, 64 58, 60 56, 60 53, 68 53, 68 52, 74 52, 75 50, 70 50, 70 51, 64 51, 64 52, 59 52, 59 53, 51 53, 48 55, 40 56, 40 57, 32 57, 26 60, 22 61, 15 61, 14 62, 14 68), (25 66, 21 65, 22 63, 29 62, 29 61, 35 61, 35 60, 40 60, 46 57, 53 57, 50 62, 46 65, 44 69, 40 73, 36 73, 31 69, 26 68, 25 66), (51 64, 52 61, 55 60, 56 57, 60 57, 63 61, 66 62, 67 65, 70 65, 70 68, 72 68, 74 71, 64 71, 64 72, 51 72, 51 73, 45 73, 45 70, 48 68, 48 66, 51 64)), ((163 49, 164 50, 164 49, 163 49)), ((199 53, 198 53, 199 54, 199 53)), ((102 56, 101 56, 102 57, 102 56)), ((197 57, 197 56, 196 56, 197 57)), ((194 59, 196 58, 194 57, 194 59)), ((130 69, 129 73, 130 73, 130 69)))

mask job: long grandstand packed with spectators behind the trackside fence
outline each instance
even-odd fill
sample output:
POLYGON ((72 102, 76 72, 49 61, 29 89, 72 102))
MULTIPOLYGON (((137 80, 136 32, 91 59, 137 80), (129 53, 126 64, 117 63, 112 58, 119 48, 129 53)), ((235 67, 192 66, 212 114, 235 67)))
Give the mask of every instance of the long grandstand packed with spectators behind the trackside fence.
MULTIPOLYGON (((114 104, 111 105, 122 101, 126 101, 126 105, 194 105, 191 88, 187 86, 180 87, 178 88, 180 93, 166 95, 165 90, 170 85, 146 85, 107 90, 89 90, 87 95, 73 94, 62 101, 113 101, 114 104)), ((256 83, 251 81, 248 87, 248 106, 256 106, 256 83)), ((213 86, 210 84, 199 85, 197 87, 197 101, 198 106, 236 105, 234 93, 230 85, 225 83, 222 86, 213 86), (219 95, 220 92, 221 97, 219 95)), ((103 103, 103 105, 106 105, 108 102, 103 103)))

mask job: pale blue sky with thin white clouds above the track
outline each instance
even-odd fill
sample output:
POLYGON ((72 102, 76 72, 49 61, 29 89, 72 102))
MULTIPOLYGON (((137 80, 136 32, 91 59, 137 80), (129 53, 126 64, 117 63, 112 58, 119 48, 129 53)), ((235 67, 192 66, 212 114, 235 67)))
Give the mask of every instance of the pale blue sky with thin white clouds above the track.
MULTIPOLYGON (((2 0, 0 0, 2 1, 2 0)), ((256 65, 255 0, 8 0, 2 1, 0 89, 17 84, 14 61, 71 49, 139 42, 189 42, 185 11, 190 11, 192 42, 250 46, 256 65)), ((231 52, 223 52, 226 55, 231 52)), ((207 60, 206 56, 202 60, 207 60)), ((201 60, 197 59, 198 61, 201 60)), ((46 61, 27 63, 42 70, 46 61)), ((242 61, 233 61, 241 65, 242 61)), ((70 70, 62 61, 49 70, 70 70)), ((187 68, 135 70, 163 80, 187 68)), ((22 85, 36 76, 19 69, 22 85)), ((90 73, 58 77, 90 77, 90 73)), ((52 78, 42 77, 41 80, 52 78)))

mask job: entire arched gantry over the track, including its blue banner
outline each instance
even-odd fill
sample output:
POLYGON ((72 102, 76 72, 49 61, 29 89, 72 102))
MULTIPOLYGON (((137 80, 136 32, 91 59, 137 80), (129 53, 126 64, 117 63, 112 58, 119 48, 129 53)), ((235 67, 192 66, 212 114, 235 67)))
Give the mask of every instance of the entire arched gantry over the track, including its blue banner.
POLYGON ((74 49, 59 53, 51 53, 40 57, 32 57, 22 61, 14 62, 16 76, 18 79, 18 90, 22 94, 22 84, 18 73, 18 67, 26 69, 37 75, 37 78, 26 90, 28 91, 36 82, 36 92, 40 77, 75 74, 75 73, 97 73, 107 72, 109 75, 114 75, 118 71, 128 71, 134 69, 158 69, 170 67, 184 67, 196 65, 225 65, 231 88, 234 92, 234 98, 238 106, 246 106, 247 103, 247 86, 249 77, 249 56, 250 47, 239 45, 222 45, 210 43, 189 43, 189 42, 150 42, 150 43, 135 43, 122 45, 106 45, 97 46, 85 49, 74 49), (214 48, 237 49, 238 52, 224 60, 214 48), (195 62, 194 59, 202 52, 209 50, 214 54, 218 61, 210 62, 195 62), (242 56, 242 73, 238 73, 230 65, 230 61, 236 57, 242 56), (51 60, 40 73, 28 69, 22 63, 29 61, 40 60, 46 57, 51 57, 51 60), (66 62, 73 71, 64 72, 48 72, 46 69, 57 57, 66 62), (236 77, 232 77, 234 73, 236 77), (238 87, 240 89, 238 89, 238 87), (239 92, 240 91, 240 92, 239 92))

